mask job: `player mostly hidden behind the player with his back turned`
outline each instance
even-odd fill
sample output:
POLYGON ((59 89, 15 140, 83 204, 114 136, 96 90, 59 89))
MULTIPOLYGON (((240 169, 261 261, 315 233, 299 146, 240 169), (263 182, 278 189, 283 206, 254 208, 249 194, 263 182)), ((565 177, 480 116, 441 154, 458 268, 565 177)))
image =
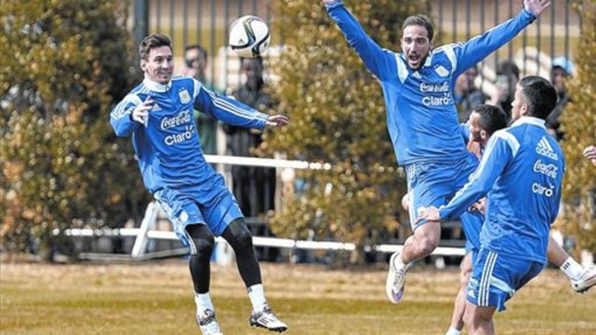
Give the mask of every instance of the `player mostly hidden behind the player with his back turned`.
MULTIPOLYGON (((469 143, 468 149, 478 148, 479 158, 488 144, 492 134, 507 126, 507 114, 501 108, 491 105, 480 105, 474 108, 470 114, 468 123, 462 125, 462 136, 464 142, 469 143)), ((466 236, 465 256, 461 262, 460 291, 455 299, 454 310, 451 318, 451 325, 445 335, 459 335, 464 327, 465 311, 465 288, 472 270, 475 256, 480 250, 480 228, 485 221, 485 198, 473 204, 468 211, 471 215, 465 217, 467 221, 462 222, 466 236)), ((572 288, 578 292, 584 292, 596 285, 596 266, 584 268, 552 238, 549 239, 547 258, 569 278, 572 288)))

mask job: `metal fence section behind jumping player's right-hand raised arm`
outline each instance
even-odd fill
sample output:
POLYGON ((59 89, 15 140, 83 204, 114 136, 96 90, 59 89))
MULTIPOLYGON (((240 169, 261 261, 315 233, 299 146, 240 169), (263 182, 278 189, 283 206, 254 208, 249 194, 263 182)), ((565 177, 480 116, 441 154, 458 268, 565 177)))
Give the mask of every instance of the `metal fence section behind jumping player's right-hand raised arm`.
MULTIPOLYGON (((552 0, 535 23, 519 36, 493 52, 480 64, 481 79, 493 81, 501 60, 513 60, 522 76, 549 78, 551 62, 564 56, 569 60, 578 45, 581 17, 575 9, 579 1, 552 0)), ((521 0, 430 0, 439 44, 462 42, 490 29, 523 8, 521 0)))

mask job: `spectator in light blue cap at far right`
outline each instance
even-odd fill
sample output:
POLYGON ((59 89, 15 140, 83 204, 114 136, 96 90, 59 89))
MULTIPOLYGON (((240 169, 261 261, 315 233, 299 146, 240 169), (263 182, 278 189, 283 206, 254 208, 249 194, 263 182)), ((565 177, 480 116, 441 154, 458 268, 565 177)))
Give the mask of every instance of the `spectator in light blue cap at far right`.
POLYGON ((563 114, 563 110, 567 103, 569 103, 569 96, 565 88, 565 80, 568 76, 573 75, 573 63, 566 57, 557 57, 552 60, 551 68, 551 83, 555 86, 558 95, 557 107, 547 117, 547 130, 557 141, 563 139, 563 131, 561 131, 559 117, 563 114))

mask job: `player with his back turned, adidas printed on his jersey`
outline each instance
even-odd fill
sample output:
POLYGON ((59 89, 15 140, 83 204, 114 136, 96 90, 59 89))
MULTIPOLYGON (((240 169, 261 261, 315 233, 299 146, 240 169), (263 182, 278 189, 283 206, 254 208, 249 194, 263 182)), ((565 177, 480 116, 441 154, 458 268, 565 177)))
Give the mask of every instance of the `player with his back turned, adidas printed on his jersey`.
POLYGON ((545 128, 557 103, 548 80, 529 76, 517 86, 513 125, 495 132, 479 168, 449 203, 420 211, 441 222, 486 196, 480 250, 467 286, 464 321, 470 334, 493 334, 493 314, 536 277, 546 262, 550 225, 561 199, 564 157, 545 128))

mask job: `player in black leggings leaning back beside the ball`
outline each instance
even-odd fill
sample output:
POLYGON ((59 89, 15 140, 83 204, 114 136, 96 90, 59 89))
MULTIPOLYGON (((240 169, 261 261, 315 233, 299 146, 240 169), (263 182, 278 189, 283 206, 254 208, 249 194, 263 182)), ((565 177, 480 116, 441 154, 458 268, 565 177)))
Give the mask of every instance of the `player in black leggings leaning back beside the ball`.
POLYGON ((287 117, 259 113, 214 94, 192 77, 172 76, 172 46, 165 35, 143 39, 139 58, 144 80, 114 107, 110 123, 119 137, 132 135, 145 187, 161 204, 178 238, 190 247, 200 330, 203 334, 221 334, 209 295, 209 259, 214 235, 221 235, 234 249, 249 293, 253 306, 250 324, 285 331, 287 325, 265 299, 252 235, 238 204, 224 178, 204 160, 193 109, 224 123, 257 129, 287 125, 287 117))

